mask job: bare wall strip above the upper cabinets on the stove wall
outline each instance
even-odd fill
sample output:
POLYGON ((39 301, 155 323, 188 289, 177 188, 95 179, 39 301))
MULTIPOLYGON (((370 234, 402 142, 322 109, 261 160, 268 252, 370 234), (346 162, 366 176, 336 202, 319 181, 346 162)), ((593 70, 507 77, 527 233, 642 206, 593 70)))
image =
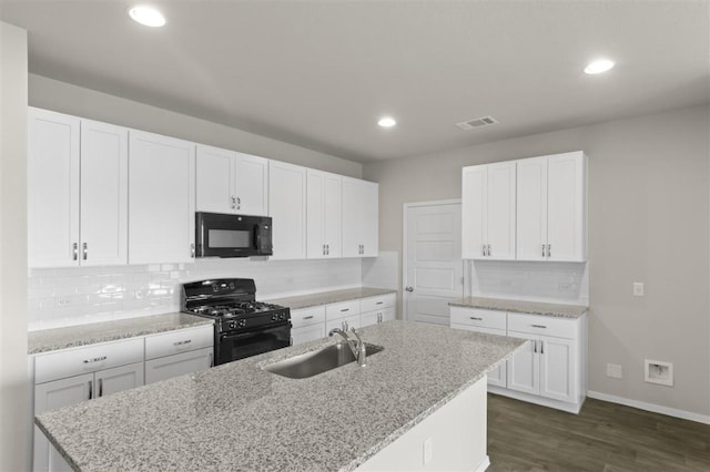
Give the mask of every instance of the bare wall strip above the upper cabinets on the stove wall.
POLYGON ((361 177, 362 164, 41 75, 29 75, 30 105, 181 140, 361 177))

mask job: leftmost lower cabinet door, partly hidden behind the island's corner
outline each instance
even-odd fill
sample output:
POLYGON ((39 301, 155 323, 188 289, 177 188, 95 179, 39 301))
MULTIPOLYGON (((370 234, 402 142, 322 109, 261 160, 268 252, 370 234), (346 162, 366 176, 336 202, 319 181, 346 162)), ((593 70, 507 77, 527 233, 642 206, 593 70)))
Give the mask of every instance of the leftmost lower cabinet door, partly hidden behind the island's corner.
MULTIPOLYGON (((89 400, 93 393, 92 386, 93 373, 34 386, 34 414, 89 400)), ((33 461, 36 471, 72 470, 37 427, 34 427, 33 461)))

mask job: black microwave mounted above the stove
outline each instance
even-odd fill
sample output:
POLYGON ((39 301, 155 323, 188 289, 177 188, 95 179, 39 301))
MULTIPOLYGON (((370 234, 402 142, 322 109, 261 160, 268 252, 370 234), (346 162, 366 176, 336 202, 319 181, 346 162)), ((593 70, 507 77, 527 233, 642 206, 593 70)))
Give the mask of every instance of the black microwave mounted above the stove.
POLYGON ((268 216, 195 213, 196 257, 271 256, 268 216))

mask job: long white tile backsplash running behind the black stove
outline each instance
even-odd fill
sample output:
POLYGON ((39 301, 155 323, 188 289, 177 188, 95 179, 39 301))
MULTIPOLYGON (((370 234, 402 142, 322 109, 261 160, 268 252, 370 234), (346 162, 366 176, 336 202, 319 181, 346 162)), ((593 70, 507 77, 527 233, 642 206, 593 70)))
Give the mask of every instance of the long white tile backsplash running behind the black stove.
POLYGON ((253 278, 266 300, 362 284, 361 259, 200 259, 194 264, 30 269, 29 330, 180 310, 181 284, 253 278))

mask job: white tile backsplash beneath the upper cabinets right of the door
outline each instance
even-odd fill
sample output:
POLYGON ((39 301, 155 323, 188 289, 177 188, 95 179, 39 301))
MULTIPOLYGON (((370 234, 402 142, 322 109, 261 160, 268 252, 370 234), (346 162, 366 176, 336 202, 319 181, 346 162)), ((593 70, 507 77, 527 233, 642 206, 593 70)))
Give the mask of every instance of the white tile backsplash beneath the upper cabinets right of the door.
POLYGON ((586 263, 467 260, 469 293, 475 297, 589 304, 586 263))

